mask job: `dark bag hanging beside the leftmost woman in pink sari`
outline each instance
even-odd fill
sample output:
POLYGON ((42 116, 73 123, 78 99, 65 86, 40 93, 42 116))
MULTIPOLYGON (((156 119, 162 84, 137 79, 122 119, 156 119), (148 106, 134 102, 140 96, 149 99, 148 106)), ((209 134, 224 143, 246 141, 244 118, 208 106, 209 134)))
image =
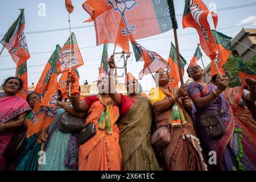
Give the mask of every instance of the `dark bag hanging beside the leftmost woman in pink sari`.
POLYGON ((15 156, 22 151, 22 147, 27 138, 27 130, 19 129, 19 133, 11 138, 10 143, 3 151, 3 157, 7 160, 15 159, 15 156))

